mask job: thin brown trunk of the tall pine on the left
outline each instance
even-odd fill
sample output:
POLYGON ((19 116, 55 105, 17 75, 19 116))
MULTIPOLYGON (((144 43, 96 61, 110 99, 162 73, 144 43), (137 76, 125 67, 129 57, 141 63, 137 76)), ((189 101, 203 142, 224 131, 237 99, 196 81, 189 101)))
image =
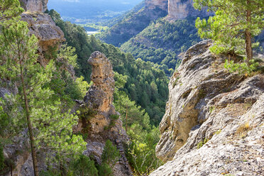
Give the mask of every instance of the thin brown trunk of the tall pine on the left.
POLYGON ((24 82, 24 77, 23 77, 23 68, 22 68, 22 60, 19 58, 19 65, 20 65, 20 77, 21 77, 21 82, 22 82, 22 87, 23 87, 23 97, 25 101, 25 109, 26 109, 26 119, 28 122, 28 132, 29 132, 29 138, 31 140, 31 154, 32 154, 32 160, 33 160, 33 169, 34 169, 34 175, 38 176, 38 161, 37 161, 37 154, 35 152, 35 139, 33 136, 33 128, 32 128, 32 123, 31 123, 31 117, 29 114, 29 108, 28 108, 28 98, 26 95, 26 85, 24 82))

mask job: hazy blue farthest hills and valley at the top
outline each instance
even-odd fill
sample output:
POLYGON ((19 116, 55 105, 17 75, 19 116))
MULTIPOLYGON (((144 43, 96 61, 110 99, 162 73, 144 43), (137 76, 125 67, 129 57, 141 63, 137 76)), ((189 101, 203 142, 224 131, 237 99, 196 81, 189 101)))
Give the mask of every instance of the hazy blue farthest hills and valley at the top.
POLYGON ((129 11, 142 0, 49 0, 48 9, 55 9, 72 23, 107 21, 129 11))

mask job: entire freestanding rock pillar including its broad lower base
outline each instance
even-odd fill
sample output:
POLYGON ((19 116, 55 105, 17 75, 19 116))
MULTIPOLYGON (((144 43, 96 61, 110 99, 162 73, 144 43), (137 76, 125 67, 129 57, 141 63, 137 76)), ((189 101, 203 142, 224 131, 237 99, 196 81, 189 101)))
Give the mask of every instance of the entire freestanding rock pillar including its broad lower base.
POLYGON ((101 164, 101 154, 104 143, 111 140, 119 149, 121 158, 114 165, 114 175, 132 175, 128 160, 124 153, 123 144, 128 141, 126 131, 123 130, 120 116, 112 105, 114 99, 114 71, 111 62, 105 55, 92 53, 88 60, 92 65, 91 80, 94 83, 81 102, 82 111, 78 130, 87 133, 87 156, 93 156, 97 163, 101 164))

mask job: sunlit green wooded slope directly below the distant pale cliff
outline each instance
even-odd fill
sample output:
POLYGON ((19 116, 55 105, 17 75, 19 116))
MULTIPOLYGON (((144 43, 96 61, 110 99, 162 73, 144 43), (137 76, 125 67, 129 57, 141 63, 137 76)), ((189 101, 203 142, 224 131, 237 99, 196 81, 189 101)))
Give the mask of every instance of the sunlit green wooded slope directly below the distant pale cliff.
POLYGON ((194 23, 193 18, 175 22, 159 19, 121 45, 121 50, 132 53, 135 58, 163 65, 165 71, 175 69, 178 55, 200 41, 194 23))

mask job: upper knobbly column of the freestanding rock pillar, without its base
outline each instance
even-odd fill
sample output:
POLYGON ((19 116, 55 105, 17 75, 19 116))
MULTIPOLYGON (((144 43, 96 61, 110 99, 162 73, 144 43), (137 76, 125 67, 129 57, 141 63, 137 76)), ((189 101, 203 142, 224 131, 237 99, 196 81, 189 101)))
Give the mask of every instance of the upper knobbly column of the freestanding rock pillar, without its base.
POLYGON ((92 53, 88 62, 92 65, 91 80, 94 84, 84 97, 84 102, 88 109, 92 109, 97 113, 89 123, 92 125, 92 131, 99 133, 104 131, 104 127, 110 123, 107 116, 116 114, 112 105, 114 99, 114 71, 111 62, 99 52, 92 53))

